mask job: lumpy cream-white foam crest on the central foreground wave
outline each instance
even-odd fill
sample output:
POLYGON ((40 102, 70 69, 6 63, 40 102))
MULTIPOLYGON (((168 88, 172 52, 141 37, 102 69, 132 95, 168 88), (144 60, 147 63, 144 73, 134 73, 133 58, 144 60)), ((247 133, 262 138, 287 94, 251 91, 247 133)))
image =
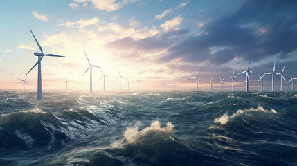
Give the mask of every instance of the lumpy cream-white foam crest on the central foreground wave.
POLYGON ((127 127, 127 130, 124 133, 124 138, 129 144, 133 144, 140 136, 144 136, 149 131, 162 131, 162 132, 173 132, 174 125, 171 122, 167 122, 165 127, 161 127, 159 120, 152 122, 150 127, 139 131, 139 127, 136 124, 135 127, 127 127))

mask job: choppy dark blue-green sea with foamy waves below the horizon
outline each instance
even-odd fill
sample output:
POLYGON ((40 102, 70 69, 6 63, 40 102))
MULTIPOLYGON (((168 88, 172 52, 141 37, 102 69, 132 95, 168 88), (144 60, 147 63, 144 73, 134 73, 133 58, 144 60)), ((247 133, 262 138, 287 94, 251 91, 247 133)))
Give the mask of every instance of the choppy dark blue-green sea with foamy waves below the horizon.
POLYGON ((297 92, 0 91, 0 165, 297 165, 297 92))

